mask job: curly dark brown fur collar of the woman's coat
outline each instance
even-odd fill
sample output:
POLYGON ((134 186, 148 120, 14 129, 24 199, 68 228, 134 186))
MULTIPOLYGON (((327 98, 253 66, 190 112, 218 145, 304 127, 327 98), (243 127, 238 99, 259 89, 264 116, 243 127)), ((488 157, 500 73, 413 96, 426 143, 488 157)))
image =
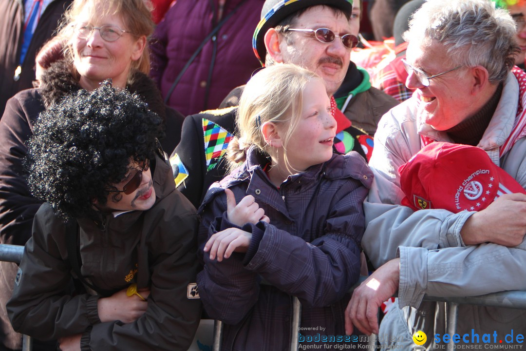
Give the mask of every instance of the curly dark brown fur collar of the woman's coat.
MULTIPOLYGON (((70 67, 66 60, 62 59, 51 64, 44 72, 38 92, 42 96, 46 109, 59 102, 65 96, 82 89, 78 78, 72 73, 70 67)), ((163 121, 166 121, 166 107, 163 97, 151 78, 144 73, 135 72, 128 79, 126 88, 131 93, 137 94, 148 104, 151 111, 157 113, 163 118, 163 121)))

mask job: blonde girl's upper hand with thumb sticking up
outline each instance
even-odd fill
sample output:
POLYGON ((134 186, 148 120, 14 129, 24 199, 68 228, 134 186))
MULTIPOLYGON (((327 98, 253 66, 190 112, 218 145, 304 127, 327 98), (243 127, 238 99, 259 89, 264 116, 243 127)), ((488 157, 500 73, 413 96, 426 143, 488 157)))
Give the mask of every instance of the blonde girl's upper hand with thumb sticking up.
POLYGON ((254 196, 247 195, 236 205, 236 197, 232 190, 225 189, 227 196, 227 218, 230 223, 242 227, 247 223, 256 224, 260 220, 270 223, 270 218, 265 215, 265 210, 255 202, 254 196))

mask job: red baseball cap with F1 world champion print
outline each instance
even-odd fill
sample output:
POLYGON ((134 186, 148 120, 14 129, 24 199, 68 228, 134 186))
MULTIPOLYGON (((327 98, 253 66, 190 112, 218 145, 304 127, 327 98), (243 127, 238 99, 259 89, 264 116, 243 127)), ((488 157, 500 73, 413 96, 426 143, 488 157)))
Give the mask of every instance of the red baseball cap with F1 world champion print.
POLYGON ((478 211, 502 194, 526 191, 476 146, 431 143, 398 168, 402 205, 478 211))

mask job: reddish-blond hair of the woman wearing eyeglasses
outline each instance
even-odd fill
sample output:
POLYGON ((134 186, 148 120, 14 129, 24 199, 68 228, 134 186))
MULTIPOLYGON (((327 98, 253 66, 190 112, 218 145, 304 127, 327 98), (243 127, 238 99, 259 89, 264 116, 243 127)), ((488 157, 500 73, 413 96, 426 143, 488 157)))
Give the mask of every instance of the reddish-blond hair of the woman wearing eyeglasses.
MULTIPOLYGON (((154 33, 155 23, 151 18, 153 7, 149 0, 74 0, 64 13, 64 20, 57 35, 65 43, 64 56, 70 64, 73 64, 72 38, 74 35, 71 24, 75 23, 77 16, 86 5, 91 5, 92 11, 96 9, 97 13, 91 14, 93 18, 118 15, 126 26, 123 29, 137 38, 145 35, 148 39, 154 33)), ((132 61, 130 67, 128 78, 135 72, 150 73, 148 44, 146 44, 141 57, 137 61, 132 61)))

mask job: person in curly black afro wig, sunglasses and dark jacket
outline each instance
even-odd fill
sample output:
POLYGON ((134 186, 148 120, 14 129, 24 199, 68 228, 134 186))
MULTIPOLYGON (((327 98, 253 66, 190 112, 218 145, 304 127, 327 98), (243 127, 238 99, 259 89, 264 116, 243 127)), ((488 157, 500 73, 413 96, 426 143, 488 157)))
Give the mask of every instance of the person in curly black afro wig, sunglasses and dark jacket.
POLYGON ((39 116, 28 184, 45 203, 7 303, 17 332, 60 349, 188 349, 201 315, 198 216, 160 126, 109 82, 39 116))

